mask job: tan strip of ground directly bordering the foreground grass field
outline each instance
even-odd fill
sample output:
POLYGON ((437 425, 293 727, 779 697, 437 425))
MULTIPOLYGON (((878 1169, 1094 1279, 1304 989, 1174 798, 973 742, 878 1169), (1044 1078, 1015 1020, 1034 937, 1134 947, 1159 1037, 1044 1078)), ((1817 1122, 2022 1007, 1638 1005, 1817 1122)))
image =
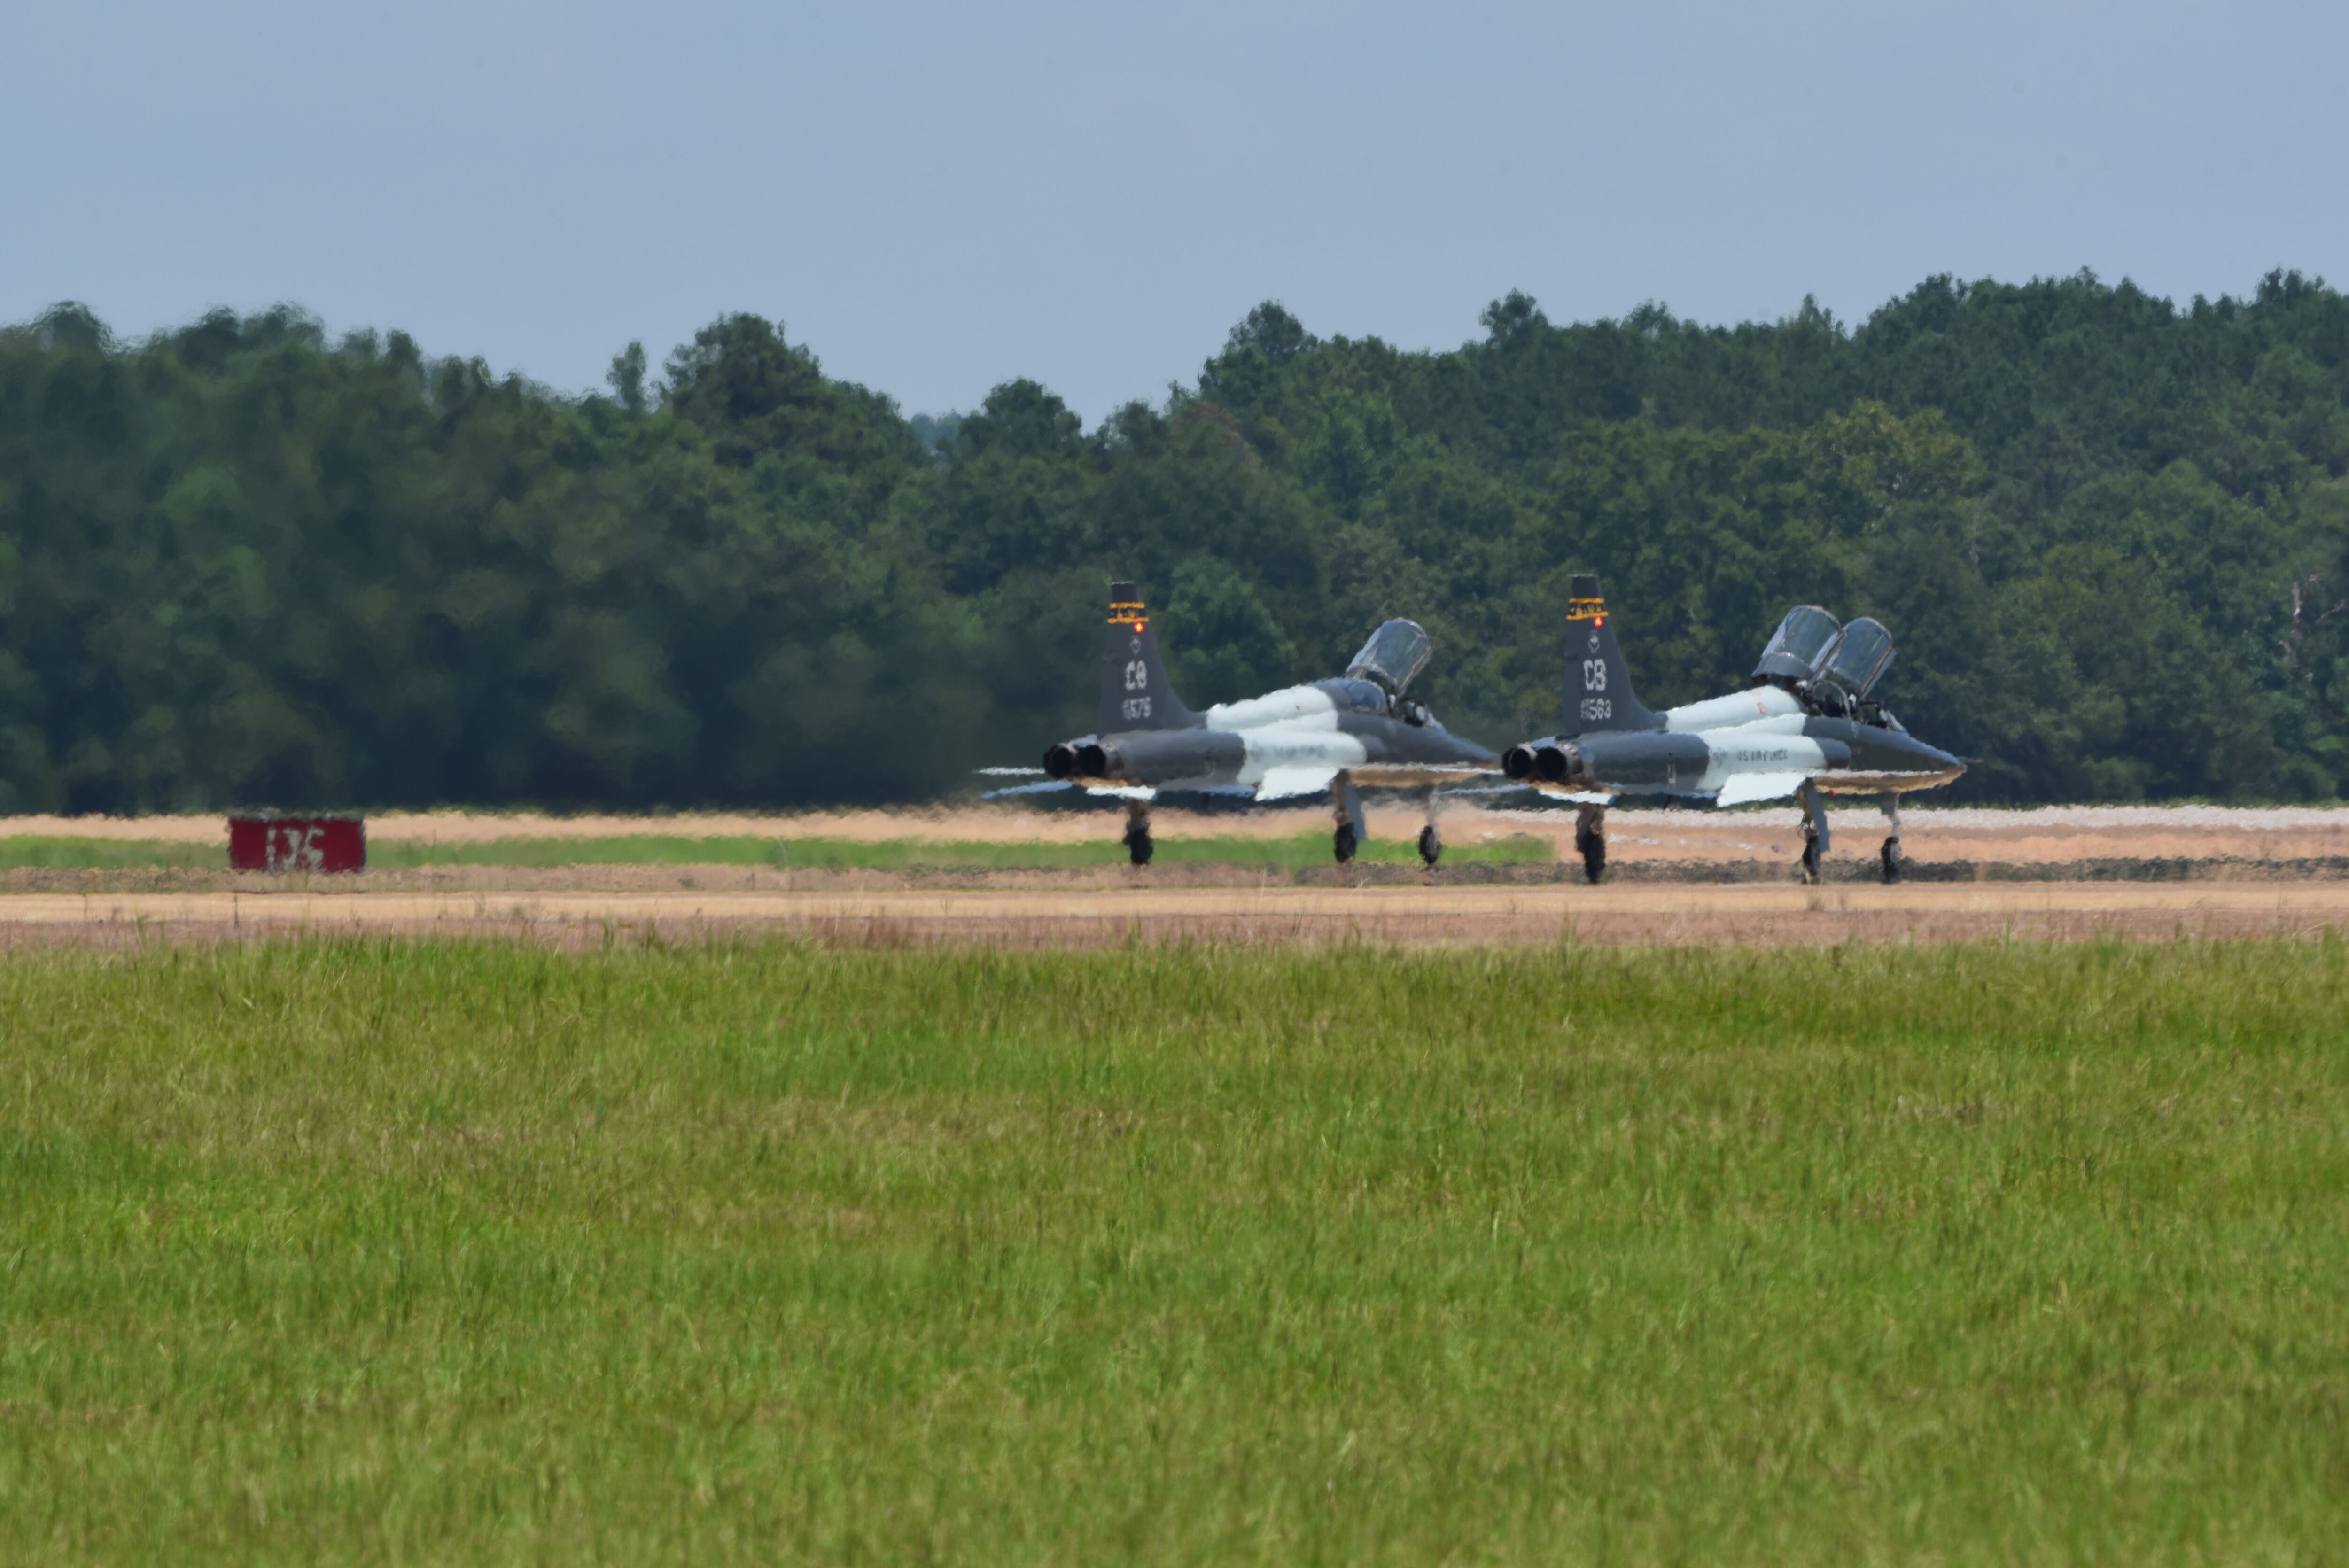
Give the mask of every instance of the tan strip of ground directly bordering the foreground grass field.
POLYGON ((298 934, 505 934, 559 946, 733 934, 792 934, 848 946, 1778 946, 2323 932, 2349 932, 2349 883, 0 897, 0 946, 9 948, 298 934))

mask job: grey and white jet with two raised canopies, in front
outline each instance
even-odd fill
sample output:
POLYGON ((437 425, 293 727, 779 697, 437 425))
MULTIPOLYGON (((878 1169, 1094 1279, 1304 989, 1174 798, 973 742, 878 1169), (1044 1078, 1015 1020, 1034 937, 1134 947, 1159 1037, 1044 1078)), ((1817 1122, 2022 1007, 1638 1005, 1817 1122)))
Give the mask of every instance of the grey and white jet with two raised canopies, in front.
POLYGON ((1574 845, 1595 883, 1607 869, 1607 805, 1616 796, 1696 796, 1715 805, 1799 796, 1802 878, 1828 852, 1828 796, 1867 793, 1891 822, 1884 880, 1900 880, 1900 796, 1966 765, 1900 728, 1867 690, 1893 662, 1875 620, 1837 624, 1818 606, 1778 622, 1752 685, 1651 714, 1633 695, 1597 577, 1576 577, 1567 606, 1567 699, 1560 732, 1510 746, 1501 772, 1581 805, 1574 845))

